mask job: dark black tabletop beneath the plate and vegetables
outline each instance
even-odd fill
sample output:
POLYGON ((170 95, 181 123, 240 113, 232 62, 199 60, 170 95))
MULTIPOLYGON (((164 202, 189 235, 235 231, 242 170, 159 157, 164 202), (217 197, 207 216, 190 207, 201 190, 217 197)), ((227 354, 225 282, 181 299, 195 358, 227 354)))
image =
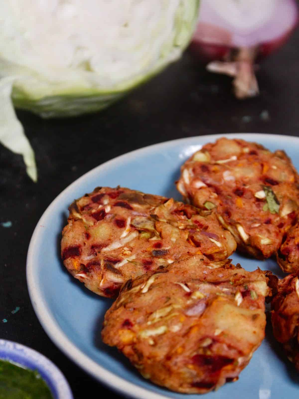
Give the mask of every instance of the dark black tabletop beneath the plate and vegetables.
POLYGON ((230 79, 211 75, 185 55, 181 61, 106 111, 66 120, 18 112, 35 150, 39 180, 22 157, 0 146, 0 338, 30 346, 67 377, 75 399, 95 389, 118 398, 72 363, 49 340, 28 296, 26 255, 33 229, 49 203, 99 164, 135 150, 201 134, 261 132, 299 136, 299 31, 258 71, 260 97, 237 101, 230 79), (264 111, 264 112, 263 112, 264 111), (266 112, 265 112, 266 111, 266 112), (269 115, 269 117, 267 117, 269 115), (264 117, 262 117, 264 116, 264 117), (11 311, 20 306, 19 312, 11 311), (2 322, 2 319, 7 322, 2 322))

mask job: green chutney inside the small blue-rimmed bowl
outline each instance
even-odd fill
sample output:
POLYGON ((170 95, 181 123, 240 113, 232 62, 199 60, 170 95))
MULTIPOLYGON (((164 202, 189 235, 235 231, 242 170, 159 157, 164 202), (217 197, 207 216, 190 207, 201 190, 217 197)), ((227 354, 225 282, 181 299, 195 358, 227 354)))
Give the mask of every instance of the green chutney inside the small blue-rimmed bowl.
POLYGON ((53 399, 37 371, 0 360, 0 399, 53 399))

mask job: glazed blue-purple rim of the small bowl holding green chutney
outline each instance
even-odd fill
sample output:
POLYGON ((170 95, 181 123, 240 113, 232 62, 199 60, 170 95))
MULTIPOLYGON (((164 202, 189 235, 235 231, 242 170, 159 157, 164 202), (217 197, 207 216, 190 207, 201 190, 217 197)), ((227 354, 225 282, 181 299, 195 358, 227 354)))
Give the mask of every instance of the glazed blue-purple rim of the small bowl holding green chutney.
POLYGON ((61 371, 39 352, 16 342, 0 340, 0 359, 38 371, 54 399, 73 399, 69 384, 61 371))

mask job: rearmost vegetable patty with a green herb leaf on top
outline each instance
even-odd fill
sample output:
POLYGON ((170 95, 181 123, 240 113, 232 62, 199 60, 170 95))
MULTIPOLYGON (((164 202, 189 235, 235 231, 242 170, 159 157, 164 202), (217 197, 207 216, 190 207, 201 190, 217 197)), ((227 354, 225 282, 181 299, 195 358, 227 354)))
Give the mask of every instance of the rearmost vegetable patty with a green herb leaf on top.
MULTIPOLYGON (((214 211, 238 249, 264 259, 279 249, 296 223, 298 182, 285 152, 220 138, 185 162, 177 188, 193 205, 214 211)), ((299 267, 299 259, 293 265, 299 267)))

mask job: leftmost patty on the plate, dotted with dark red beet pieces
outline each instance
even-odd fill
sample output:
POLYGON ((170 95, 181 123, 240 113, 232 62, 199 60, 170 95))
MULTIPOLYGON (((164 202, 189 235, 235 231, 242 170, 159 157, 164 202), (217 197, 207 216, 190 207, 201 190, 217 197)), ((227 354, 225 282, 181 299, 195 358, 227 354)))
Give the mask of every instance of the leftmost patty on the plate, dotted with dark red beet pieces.
POLYGON ((209 210, 128 188, 96 188, 69 207, 61 256, 68 271, 102 296, 159 266, 194 255, 220 261, 236 249, 209 210))

